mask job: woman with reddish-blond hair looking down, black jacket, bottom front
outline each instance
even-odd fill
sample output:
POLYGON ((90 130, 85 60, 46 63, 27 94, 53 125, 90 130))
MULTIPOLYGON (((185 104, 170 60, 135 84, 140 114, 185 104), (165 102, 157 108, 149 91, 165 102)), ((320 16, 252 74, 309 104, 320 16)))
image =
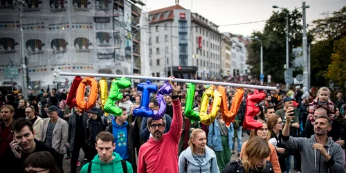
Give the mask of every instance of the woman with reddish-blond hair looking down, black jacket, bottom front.
POLYGON ((248 140, 242 158, 227 163, 223 173, 274 173, 273 166, 266 158, 271 155, 268 142, 260 136, 248 140))

